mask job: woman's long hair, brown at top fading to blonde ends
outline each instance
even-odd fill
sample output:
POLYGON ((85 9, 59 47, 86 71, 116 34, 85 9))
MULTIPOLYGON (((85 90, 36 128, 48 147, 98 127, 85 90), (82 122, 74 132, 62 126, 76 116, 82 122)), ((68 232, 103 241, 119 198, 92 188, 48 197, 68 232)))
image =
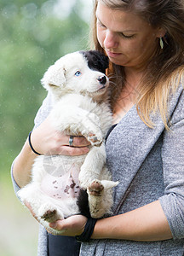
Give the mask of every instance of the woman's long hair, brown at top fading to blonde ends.
MULTIPOLYGON (((138 88, 136 108, 143 122, 149 127, 154 124, 151 113, 159 111, 166 128, 168 128, 168 99, 175 93, 184 74, 184 3, 181 0, 95 0, 91 29, 93 48, 104 52, 96 36, 95 11, 98 2, 111 9, 134 11, 152 27, 162 27, 166 31, 164 49, 158 49, 157 55, 147 66, 144 78, 138 88)), ((105 53, 105 52, 104 52, 105 53)), ((124 67, 110 63, 107 73, 112 79, 112 108, 125 81, 124 67)))

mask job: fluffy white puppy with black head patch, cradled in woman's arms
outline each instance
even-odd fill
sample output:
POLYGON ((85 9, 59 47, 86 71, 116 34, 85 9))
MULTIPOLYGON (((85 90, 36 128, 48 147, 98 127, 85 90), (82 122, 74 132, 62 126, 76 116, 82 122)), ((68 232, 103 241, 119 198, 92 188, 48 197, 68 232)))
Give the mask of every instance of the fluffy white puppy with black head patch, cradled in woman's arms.
POLYGON ((78 51, 61 57, 43 76, 43 87, 55 102, 55 129, 90 143, 89 153, 81 156, 37 156, 32 182, 18 193, 49 230, 50 222, 73 214, 101 218, 111 213, 112 187, 118 183, 106 168, 104 139, 112 125, 107 67, 108 59, 100 52, 78 51))

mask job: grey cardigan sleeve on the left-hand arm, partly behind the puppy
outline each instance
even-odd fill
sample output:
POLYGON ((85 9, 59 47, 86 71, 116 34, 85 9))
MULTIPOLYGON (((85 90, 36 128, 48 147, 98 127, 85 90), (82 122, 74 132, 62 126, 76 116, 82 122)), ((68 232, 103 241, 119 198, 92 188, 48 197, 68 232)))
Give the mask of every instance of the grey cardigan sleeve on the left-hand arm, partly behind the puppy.
MULTIPOLYGON (((43 120, 47 118, 52 106, 53 106, 53 99, 52 99, 52 96, 48 94, 48 96, 43 100, 42 106, 37 111, 36 117, 34 119, 34 128, 39 126, 43 122, 43 120)), ((16 194, 20 189, 20 187, 14 180, 13 166, 14 166, 14 162, 11 166, 11 178, 12 178, 12 183, 14 187, 14 193, 16 194)))

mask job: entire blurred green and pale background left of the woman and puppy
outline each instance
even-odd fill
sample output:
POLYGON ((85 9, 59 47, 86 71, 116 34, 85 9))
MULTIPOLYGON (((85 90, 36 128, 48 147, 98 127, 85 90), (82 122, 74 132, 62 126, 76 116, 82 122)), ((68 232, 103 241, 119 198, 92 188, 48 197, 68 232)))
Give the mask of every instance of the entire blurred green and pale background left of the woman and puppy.
POLYGON ((0 1, 0 255, 37 255, 38 224, 14 195, 10 166, 46 96, 40 79, 87 49, 92 0, 0 1))

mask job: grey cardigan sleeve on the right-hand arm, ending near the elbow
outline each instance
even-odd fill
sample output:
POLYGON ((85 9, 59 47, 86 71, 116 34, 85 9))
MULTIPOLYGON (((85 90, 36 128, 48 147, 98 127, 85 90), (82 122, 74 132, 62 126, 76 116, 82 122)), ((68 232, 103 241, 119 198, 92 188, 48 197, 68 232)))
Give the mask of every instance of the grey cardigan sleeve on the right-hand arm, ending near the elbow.
POLYGON ((162 148, 164 196, 159 198, 174 239, 184 237, 184 95, 164 132, 162 148))

